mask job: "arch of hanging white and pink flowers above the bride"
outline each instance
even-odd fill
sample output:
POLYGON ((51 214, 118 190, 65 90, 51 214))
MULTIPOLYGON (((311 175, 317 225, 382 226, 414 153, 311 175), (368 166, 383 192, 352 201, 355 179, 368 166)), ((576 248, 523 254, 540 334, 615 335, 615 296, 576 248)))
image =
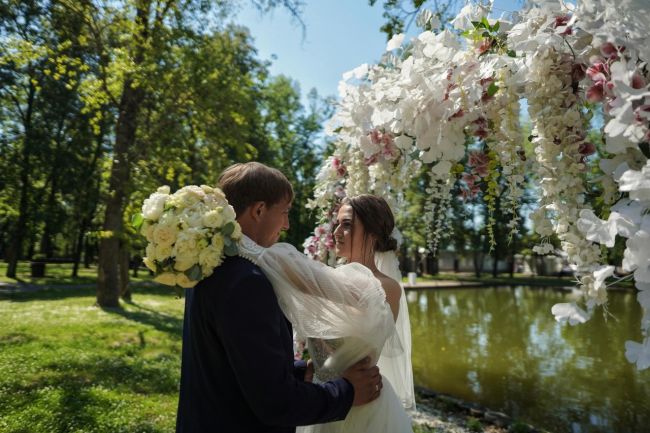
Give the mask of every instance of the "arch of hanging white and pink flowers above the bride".
MULTIPOLYGON (((427 226, 445 214, 451 187, 467 194, 485 182, 490 197, 503 188, 516 224, 524 175, 540 189, 531 219, 542 238, 556 234, 576 265, 582 299, 557 304, 561 322, 587 321, 607 303, 605 279, 614 267, 601 246, 627 238, 623 268, 633 272, 643 308, 642 341, 626 343, 638 369, 650 367, 650 5, 645 0, 540 1, 509 20, 488 19, 489 5, 468 5, 453 30, 424 31, 403 45, 389 41, 376 65, 346 73, 329 132, 334 154, 318 177, 310 206, 322 215, 307 253, 327 260, 333 248, 333 210, 345 195, 371 191, 394 210, 420 167, 429 172, 427 226), (526 101, 534 156, 524 156, 519 113, 526 101), (600 150, 606 210, 596 215, 585 202, 586 171, 596 152, 587 128, 602 110, 605 145, 600 150), (468 143, 479 140, 482 150, 468 143), (468 159, 469 171, 459 164, 468 159), (533 161, 530 161, 530 160, 533 161), (498 170, 497 170, 498 169, 498 170)), ((418 20, 437 27, 431 14, 418 20)), ((488 218, 488 227, 493 223, 488 218)), ((440 225, 436 225, 440 227, 440 225)), ((489 231, 489 230, 488 230, 489 231)), ((428 233, 435 250, 440 230, 428 233)), ((548 241, 535 247, 542 254, 548 241)))

